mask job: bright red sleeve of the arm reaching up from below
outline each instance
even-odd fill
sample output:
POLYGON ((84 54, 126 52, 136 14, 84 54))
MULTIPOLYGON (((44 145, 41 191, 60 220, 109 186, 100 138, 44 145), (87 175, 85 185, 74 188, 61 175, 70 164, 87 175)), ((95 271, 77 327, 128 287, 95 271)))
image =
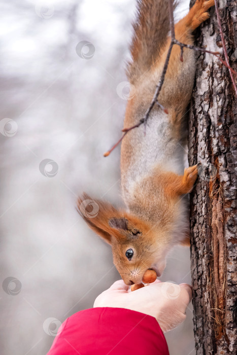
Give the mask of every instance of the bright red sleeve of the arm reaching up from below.
POLYGON ((124 308, 90 308, 67 318, 48 355, 169 355, 156 319, 124 308))

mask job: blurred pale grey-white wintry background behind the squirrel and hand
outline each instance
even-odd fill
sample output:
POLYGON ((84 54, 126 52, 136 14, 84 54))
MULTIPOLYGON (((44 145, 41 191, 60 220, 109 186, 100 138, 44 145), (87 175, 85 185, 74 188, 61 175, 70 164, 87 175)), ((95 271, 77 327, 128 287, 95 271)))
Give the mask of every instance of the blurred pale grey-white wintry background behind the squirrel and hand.
MULTIPOLYGON (((1 6, 1 354, 42 355, 120 278, 75 206, 82 191, 123 205, 120 149, 103 153, 121 136, 136 0, 1 6)), ((190 282, 189 270, 177 247, 162 279, 190 282)), ((165 337, 171 355, 194 354, 191 305, 165 337)))

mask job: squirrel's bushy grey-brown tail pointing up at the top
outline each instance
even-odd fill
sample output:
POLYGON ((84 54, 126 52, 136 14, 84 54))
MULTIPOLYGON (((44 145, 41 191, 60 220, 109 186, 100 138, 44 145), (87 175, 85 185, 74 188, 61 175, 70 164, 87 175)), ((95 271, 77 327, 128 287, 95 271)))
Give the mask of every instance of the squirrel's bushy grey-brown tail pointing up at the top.
POLYGON ((167 0, 138 0, 137 13, 130 47, 132 60, 127 66, 127 76, 131 83, 158 59, 160 48, 166 42, 170 30, 167 0))

